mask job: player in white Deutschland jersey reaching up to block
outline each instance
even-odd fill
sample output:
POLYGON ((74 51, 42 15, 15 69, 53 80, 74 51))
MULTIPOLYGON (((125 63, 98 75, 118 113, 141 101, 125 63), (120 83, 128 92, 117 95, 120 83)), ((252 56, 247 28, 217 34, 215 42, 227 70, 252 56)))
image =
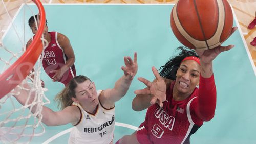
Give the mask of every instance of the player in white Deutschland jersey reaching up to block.
MULTIPOLYGON (((74 77, 68 85, 56 96, 61 111, 50 108, 42 109, 42 122, 48 126, 58 126, 71 123, 73 128, 69 143, 113 143, 115 125, 115 102, 120 100, 129 89, 138 71, 137 53, 134 59, 124 57, 122 66, 124 75, 118 79, 114 88, 96 91, 94 82, 86 76, 74 77)), ((22 87, 30 88, 28 85, 22 87)), ((24 105, 28 99, 28 91, 15 88, 13 93, 18 102, 24 105)), ((30 97, 28 103, 33 102, 30 97)), ((31 112, 37 109, 33 106, 31 112)))

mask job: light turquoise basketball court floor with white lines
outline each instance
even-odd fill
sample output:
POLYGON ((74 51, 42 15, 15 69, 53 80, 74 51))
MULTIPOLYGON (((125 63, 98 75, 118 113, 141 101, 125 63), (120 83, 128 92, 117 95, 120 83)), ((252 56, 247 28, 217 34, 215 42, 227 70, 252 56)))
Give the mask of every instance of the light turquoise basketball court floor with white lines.
MULTIPOLYGON (((34 5, 30 7, 38 13, 34 5)), ((164 65, 175 54, 176 47, 181 45, 169 25, 173 4, 46 4, 44 7, 49 31, 65 34, 71 41, 77 75, 91 78, 97 89, 113 87, 123 75, 123 56, 133 57, 134 52, 138 53, 138 73, 125 97, 115 106, 114 142, 133 133, 146 113, 146 110, 135 112, 131 107, 135 97, 133 91, 145 87, 137 78, 153 80, 151 67, 164 65)), ((17 27, 23 26, 20 23, 23 14, 22 7, 14 18, 17 27)), ((26 21, 30 16, 25 13, 26 21)), ((233 25, 239 26, 236 17, 233 25)), ((25 30, 27 41, 32 32, 27 25, 25 30)), ((15 43, 17 39, 13 34, 13 30, 8 29, 3 41, 10 45, 15 43)), ((223 45, 229 44, 236 47, 214 61, 217 86, 215 117, 191 136, 191 143, 256 143, 256 70, 241 27, 223 45)), ((44 71, 41 79, 46 83, 48 91, 45 94, 51 101, 46 106, 57 110, 53 99, 63 85, 53 83, 44 71)), ((45 127, 45 134, 34 137, 31 143, 67 143, 71 125, 45 127)))

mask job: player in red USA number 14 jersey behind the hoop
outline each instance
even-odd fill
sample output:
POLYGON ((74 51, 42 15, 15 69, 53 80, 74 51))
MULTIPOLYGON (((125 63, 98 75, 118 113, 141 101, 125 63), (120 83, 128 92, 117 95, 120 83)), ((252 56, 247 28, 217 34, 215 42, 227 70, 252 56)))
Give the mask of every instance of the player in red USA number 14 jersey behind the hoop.
MULTIPOLYGON (((35 19, 38 22, 39 16, 31 16, 28 21, 33 34, 37 33, 35 19)), ((54 82, 58 81, 66 86, 76 76, 75 55, 69 38, 61 33, 48 32, 47 21, 43 34, 48 41, 48 46, 44 51, 42 66, 54 82)), ((31 44, 32 40, 33 38, 27 42, 26 47, 31 44)), ((44 82, 42 85, 44 86, 44 82)))

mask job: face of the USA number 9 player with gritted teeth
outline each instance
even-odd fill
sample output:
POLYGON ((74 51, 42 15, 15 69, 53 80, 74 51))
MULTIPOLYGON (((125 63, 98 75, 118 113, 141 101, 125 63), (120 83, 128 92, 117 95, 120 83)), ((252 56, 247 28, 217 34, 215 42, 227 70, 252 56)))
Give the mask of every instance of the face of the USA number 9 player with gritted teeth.
POLYGON ((194 60, 181 63, 177 74, 175 88, 181 94, 191 94, 199 83, 200 65, 194 60))

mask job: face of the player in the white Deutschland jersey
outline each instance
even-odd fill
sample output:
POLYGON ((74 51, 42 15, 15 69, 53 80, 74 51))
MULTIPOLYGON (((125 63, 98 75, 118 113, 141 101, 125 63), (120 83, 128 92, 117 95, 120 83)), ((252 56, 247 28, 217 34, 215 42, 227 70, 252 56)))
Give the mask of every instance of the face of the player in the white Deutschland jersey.
POLYGON ((76 99, 81 105, 96 107, 99 103, 95 85, 86 80, 75 88, 76 99))

